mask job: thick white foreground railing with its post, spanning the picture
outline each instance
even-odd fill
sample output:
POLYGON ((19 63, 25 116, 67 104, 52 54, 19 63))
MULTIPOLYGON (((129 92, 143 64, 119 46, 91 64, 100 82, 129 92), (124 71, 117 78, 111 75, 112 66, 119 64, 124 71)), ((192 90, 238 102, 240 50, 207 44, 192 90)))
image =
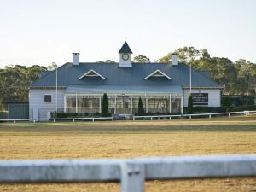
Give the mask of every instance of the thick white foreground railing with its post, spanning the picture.
POLYGON ((256 154, 114 160, 0 160, 0 183, 120 181, 122 192, 143 192, 144 181, 256 177, 256 154))

